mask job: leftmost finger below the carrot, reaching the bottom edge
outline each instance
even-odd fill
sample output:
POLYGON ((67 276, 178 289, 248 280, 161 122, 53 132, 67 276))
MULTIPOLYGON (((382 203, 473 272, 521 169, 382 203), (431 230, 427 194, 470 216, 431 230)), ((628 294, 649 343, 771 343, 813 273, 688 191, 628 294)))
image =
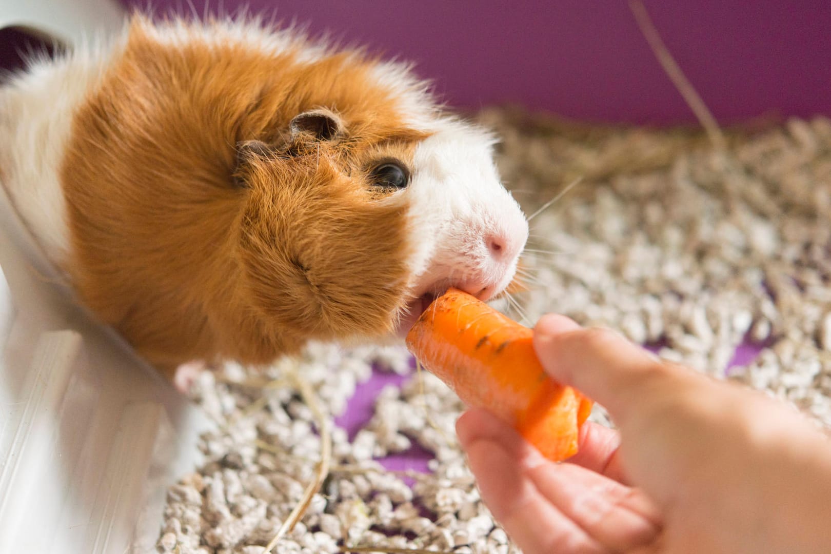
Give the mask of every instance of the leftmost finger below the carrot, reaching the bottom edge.
MULTIPOLYGON (((504 429, 489 428, 489 431, 498 431, 492 437, 473 429, 475 416, 468 419, 465 415, 460 418, 457 429, 470 469, 479 484, 479 493, 523 552, 607 552, 587 532, 553 507, 529 478, 524 460, 517 458, 514 449, 502 444, 503 439, 512 443, 510 434, 514 433, 513 429, 507 426, 504 429)), ((538 464, 536 467, 542 466, 538 464)))

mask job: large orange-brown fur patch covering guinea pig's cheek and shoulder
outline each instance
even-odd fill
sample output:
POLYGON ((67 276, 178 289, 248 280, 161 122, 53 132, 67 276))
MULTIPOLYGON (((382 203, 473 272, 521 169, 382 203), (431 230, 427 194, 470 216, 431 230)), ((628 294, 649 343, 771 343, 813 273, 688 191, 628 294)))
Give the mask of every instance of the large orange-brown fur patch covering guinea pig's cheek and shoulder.
POLYGON ((66 270, 83 302, 166 373, 389 331, 406 285, 406 206, 373 192, 366 172, 387 156, 411 164, 425 135, 373 84, 375 61, 163 45, 147 25, 134 22, 78 110, 61 168, 66 270), (317 107, 345 134, 281 155, 290 120, 317 107), (246 140, 275 154, 238 166, 246 140))

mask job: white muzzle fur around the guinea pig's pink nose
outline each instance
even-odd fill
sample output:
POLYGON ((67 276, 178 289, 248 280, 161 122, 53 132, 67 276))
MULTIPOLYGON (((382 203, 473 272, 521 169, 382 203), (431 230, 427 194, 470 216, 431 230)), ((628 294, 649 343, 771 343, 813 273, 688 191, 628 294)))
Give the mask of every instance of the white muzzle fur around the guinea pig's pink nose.
POLYGON ((507 287, 528 222, 494 166, 493 137, 473 125, 445 120, 416 148, 406 194, 415 251, 410 260, 415 296, 438 285, 489 298, 507 287), (494 255, 489 243, 498 238, 494 255))

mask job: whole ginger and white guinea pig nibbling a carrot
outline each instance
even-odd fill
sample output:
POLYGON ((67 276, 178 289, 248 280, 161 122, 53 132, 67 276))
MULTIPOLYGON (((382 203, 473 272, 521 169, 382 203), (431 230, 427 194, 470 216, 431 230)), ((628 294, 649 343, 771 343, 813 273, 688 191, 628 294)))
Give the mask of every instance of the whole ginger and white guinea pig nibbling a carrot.
POLYGON ((78 299, 172 375, 489 299, 528 223, 489 133, 407 66, 258 22, 133 17, 0 88, 0 181, 78 299))

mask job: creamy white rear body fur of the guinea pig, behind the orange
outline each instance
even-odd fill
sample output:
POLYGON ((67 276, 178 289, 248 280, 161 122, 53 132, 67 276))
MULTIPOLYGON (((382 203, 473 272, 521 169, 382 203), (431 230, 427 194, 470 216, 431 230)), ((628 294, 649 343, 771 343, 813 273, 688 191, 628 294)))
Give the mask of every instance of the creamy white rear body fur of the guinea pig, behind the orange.
POLYGON ((69 249, 60 172, 72 120, 115 51, 96 42, 54 59, 44 55, 0 84, 0 184, 57 267, 69 249))

